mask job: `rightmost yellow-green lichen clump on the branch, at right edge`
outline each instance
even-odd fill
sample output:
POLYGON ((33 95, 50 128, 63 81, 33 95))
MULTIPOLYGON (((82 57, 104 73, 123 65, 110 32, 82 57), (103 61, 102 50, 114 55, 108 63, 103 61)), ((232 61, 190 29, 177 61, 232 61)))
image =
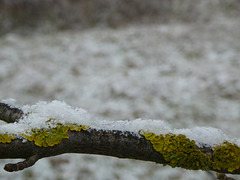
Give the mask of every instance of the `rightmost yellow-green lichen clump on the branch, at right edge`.
POLYGON ((232 172, 240 168, 240 148, 236 144, 224 142, 214 148, 214 169, 227 169, 232 172))

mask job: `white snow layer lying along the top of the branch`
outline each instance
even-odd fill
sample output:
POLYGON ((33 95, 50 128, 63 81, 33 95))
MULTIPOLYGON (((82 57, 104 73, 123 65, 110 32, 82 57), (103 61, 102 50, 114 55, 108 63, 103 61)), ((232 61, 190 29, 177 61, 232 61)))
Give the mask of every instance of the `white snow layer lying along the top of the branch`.
MULTIPOLYGON (((0 133, 13 133, 17 136, 31 132, 32 129, 49 129, 56 127, 56 122, 63 125, 77 124, 90 126, 93 129, 121 130, 135 134, 155 133, 159 134, 183 134, 190 140, 195 140, 198 146, 217 146, 224 141, 238 143, 239 139, 230 139, 221 130, 211 127, 194 127, 189 129, 172 129, 170 125, 162 120, 101 120, 90 115, 86 110, 74 108, 65 102, 40 101, 35 105, 23 106, 24 113, 28 113, 18 123, 4 124, 0 126, 0 133), (54 121, 48 121, 54 119, 54 121)), ((240 144, 237 144, 240 146, 240 144)))

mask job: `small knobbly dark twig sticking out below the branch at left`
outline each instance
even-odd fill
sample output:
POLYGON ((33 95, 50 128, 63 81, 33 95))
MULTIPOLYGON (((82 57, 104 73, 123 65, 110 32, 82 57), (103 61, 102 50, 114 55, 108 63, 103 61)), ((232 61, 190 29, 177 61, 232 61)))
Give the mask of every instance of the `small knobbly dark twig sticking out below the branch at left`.
POLYGON ((14 163, 14 164, 10 164, 10 163, 6 164, 4 169, 8 172, 23 170, 25 168, 28 168, 28 167, 34 165, 38 160, 39 160, 39 156, 33 155, 23 162, 18 162, 18 163, 14 163))

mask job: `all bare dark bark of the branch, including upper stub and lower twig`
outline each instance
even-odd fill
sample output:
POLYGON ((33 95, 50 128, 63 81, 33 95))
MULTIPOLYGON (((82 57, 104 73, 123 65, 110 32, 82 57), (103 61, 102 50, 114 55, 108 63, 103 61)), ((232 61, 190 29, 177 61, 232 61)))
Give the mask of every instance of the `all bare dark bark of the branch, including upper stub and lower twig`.
MULTIPOLYGON (((6 122, 17 121, 23 116, 23 112, 17 108, 0 104, 0 119, 6 122), (2 109, 1 109, 2 108, 2 109)), ((154 150, 153 145, 141 134, 103 129, 88 129, 86 131, 67 132, 68 139, 54 146, 39 147, 33 141, 23 142, 22 139, 14 139, 10 143, 0 143, 0 159, 23 158, 23 162, 7 164, 6 171, 18 171, 34 165, 41 159, 64 153, 84 153, 114 156, 119 158, 152 161, 167 165, 163 155, 154 150)), ((212 157, 211 147, 197 147, 201 152, 212 157)), ((240 174, 240 169, 229 172, 227 169, 211 169, 220 173, 240 174)))

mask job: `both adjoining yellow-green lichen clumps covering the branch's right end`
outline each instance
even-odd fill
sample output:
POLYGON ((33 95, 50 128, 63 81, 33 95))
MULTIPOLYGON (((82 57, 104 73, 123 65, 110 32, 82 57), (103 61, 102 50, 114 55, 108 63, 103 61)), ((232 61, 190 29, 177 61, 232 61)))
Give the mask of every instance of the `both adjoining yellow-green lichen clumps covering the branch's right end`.
POLYGON ((240 148, 236 144, 225 142, 213 147, 212 157, 201 152, 193 140, 185 135, 155 135, 142 133, 153 148, 160 152, 166 164, 172 167, 202 170, 228 170, 232 172, 240 168, 240 148))

